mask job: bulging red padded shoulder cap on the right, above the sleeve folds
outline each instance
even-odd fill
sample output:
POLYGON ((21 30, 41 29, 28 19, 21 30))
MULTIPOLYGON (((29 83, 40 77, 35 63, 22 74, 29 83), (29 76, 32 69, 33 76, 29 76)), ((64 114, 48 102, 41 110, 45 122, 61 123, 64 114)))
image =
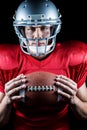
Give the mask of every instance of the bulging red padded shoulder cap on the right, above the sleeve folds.
POLYGON ((87 62, 87 44, 82 41, 67 41, 63 43, 64 54, 68 56, 69 64, 77 65, 87 62))

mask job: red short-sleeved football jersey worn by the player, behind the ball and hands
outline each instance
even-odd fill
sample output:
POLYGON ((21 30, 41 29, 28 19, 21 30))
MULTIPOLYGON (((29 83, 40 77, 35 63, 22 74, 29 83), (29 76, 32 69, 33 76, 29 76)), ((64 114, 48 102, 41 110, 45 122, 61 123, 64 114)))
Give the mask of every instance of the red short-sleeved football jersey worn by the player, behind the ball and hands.
MULTIPOLYGON (((35 71, 65 75, 79 88, 86 80, 87 45, 79 41, 58 43, 54 51, 41 61, 24 54, 19 45, 0 45, 0 92, 4 93, 4 84, 12 78, 35 71)), ((64 99, 43 107, 28 107, 18 101, 13 107, 14 130, 70 130, 68 104, 64 99)))

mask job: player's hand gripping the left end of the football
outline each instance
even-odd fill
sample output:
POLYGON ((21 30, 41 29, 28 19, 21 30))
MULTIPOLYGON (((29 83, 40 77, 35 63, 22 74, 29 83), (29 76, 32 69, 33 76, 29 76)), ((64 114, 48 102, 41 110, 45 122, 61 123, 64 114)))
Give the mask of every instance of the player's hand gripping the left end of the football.
POLYGON ((19 95, 18 93, 21 89, 26 88, 25 83, 26 77, 23 74, 20 74, 5 84, 5 97, 7 103, 12 103, 15 100, 24 98, 23 95, 19 95))

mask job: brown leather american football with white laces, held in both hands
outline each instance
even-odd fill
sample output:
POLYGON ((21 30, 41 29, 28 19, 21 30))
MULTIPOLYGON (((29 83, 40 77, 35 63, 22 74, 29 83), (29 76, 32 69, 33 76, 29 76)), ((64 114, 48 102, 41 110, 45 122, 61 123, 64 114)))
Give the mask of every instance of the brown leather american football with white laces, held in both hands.
POLYGON ((28 82, 25 94, 25 103, 32 105, 55 104, 58 101, 58 86, 55 85, 56 74, 37 71, 26 75, 28 82))

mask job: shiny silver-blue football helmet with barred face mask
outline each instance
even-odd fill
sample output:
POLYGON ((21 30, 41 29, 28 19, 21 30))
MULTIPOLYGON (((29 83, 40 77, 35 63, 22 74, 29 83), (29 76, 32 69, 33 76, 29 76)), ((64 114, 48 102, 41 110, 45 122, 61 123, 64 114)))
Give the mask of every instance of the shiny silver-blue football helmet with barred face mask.
POLYGON ((15 11, 13 26, 20 42, 21 49, 29 55, 47 55, 52 52, 56 44, 56 35, 61 29, 61 14, 50 0, 25 0, 15 11), (50 26, 51 35, 44 38, 26 38, 26 26, 50 26), (36 41, 36 46, 29 46, 29 41, 36 41), (39 41, 45 40, 44 46, 38 46, 39 41), (49 44, 50 43, 50 44, 49 44), (31 53, 31 50, 34 53, 31 53))

